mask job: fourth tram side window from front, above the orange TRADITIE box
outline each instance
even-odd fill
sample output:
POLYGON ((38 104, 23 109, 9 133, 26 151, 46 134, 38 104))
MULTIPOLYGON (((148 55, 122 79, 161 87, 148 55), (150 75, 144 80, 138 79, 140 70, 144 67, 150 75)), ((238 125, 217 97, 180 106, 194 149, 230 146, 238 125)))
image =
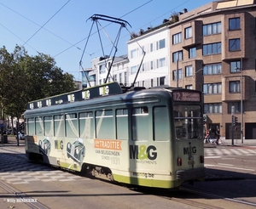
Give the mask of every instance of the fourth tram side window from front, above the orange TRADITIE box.
POLYGON ((114 138, 113 110, 96 111, 96 138, 114 138))

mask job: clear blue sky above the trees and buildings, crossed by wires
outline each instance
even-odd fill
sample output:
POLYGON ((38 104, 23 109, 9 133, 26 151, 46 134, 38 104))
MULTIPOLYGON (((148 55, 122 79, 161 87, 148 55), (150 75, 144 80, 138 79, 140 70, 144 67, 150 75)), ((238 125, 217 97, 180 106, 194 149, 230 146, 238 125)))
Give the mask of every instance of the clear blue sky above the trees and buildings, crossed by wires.
POLYGON ((213 0, 0 0, 0 48, 13 53, 15 46, 27 54, 48 54, 56 66, 81 80, 80 71, 91 67, 91 59, 113 54, 119 35, 117 56, 127 54, 132 32, 160 25, 171 14, 188 11, 213 0), (94 14, 125 20, 126 27, 106 20, 91 20, 94 14), (130 26, 131 25, 131 26, 130 26), (100 29, 100 37, 97 33, 100 29), (89 36, 90 35, 90 36, 89 36), (100 41, 101 40, 101 41, 100 41), (102 44, 101 44, 102 42, 102 44), (79 65, 81 64, 81 65, 79 65))

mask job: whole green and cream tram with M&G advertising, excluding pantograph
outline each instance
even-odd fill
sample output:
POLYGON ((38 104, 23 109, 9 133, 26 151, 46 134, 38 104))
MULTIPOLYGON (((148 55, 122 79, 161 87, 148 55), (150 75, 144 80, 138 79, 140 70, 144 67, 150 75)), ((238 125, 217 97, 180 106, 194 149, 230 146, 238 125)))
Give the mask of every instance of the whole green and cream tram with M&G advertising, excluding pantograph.
POLYGON ((26 157, 124 184, 205 177, 201 92, 112 82, 27 104, 26 157))

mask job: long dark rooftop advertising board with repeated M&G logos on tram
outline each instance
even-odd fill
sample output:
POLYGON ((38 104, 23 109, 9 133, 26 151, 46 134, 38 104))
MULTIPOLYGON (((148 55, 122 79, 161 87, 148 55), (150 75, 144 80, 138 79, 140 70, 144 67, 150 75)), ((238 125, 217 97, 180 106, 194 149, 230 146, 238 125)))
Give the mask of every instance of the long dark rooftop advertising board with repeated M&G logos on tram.
POLYGON ((71 102, 78 102, 118 93, 122 93, 122 88, 119 86, 119 83, 111 82, 92 88, 84 88, 79 91, 63 93, 54 97, 32 101, 27 104, 26 110, 32 110, 58 104, 67 104, 71 102))

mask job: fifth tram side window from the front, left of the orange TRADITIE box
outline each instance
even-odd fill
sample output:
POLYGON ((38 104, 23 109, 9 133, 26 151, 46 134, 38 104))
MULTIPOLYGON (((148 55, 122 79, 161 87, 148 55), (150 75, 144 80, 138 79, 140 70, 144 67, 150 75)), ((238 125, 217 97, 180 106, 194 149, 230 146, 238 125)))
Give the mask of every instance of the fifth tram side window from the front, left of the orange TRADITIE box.
POLYGON ((93 138, 94 124, 92 112, 79 113, 79 136, 80 138, 93 138))

